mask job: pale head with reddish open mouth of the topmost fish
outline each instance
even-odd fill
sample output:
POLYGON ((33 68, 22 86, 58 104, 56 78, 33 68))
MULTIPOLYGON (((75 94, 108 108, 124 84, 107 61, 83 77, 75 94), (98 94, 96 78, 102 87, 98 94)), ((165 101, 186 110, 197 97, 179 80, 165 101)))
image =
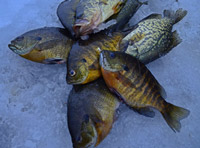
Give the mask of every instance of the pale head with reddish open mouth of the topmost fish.
POLYGON ((85 9, 84 7, 80 9, 79 7, 77 8, 76 21, 73 25, 73 30, 77 37, 92 33, 101 23, 101 10, 95 4, 94 2, 94 4, 91 4, 92 7, 85 7, 85 9))

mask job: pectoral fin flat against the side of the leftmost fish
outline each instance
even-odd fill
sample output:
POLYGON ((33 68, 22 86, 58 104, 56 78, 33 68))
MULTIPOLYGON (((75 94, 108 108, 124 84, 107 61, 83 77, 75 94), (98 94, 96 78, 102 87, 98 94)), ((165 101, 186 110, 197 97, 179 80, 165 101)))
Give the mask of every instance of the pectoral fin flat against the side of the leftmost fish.
POLYGON ((36 48, 39 51, 48 50, 48 49, 56 47, 59 42, 60 42, 60 39, 49 40, 49 41, 46 41, 44 43, 38 44, 36 48))

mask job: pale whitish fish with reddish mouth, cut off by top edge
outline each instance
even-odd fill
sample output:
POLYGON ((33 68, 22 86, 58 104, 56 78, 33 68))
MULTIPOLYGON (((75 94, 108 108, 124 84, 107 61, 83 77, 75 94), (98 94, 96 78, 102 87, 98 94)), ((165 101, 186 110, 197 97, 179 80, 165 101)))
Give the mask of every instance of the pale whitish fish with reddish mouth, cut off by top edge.
POLYGON ((76 19, 73 25, 76 37, 98 32, 116 23, 103 24, 112 15, 117 14, 126 0, 81 0, 76 8, 76 19), (100 25, 103 25, 99 27, 100 25), (101 29, 99 29, 99 28, 101 29))

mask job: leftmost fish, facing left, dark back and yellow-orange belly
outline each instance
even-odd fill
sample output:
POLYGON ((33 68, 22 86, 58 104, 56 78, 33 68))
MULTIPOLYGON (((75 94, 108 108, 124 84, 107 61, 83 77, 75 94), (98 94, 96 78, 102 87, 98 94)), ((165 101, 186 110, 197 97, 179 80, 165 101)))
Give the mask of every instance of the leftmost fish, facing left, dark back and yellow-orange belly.
POLYGON ((8 47, 21 57, 44 64, 65 63, 73 40, 65 29, 44 27, 28 31, 14 40, 8 47))

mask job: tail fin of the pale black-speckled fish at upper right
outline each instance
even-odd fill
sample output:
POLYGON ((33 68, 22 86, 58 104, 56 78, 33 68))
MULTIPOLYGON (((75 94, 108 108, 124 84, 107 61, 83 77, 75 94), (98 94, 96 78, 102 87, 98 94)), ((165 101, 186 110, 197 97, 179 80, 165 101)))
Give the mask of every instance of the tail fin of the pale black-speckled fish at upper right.
POLYGON ((176 24, 180 20, 182 20, 184 16, 186 16, 187 11, 180 8, 176 10, 176 12, 172 10, 164 10, 163 14, 164 14, 164 17, 171 18, 173 20, 173 24, 176 24))

